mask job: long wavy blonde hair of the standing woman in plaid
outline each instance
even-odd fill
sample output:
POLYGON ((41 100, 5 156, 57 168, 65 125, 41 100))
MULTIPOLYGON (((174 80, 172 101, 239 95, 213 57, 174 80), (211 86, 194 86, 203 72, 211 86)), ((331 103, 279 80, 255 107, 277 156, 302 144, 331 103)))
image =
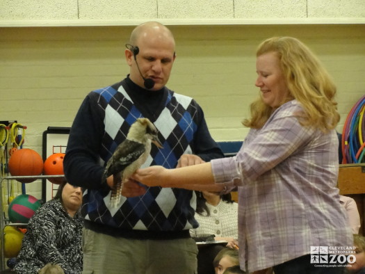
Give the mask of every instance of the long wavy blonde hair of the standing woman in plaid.
MULTIPOLYGON (((325 132, 334 129, 340 119, 334 101, 336 86, 318 58, 306 45, 291 37, 274 37, 261 42, 256 56, 268 52, 275 52, 279 58, 290 99, 297 99, 304 108, 304 113, 298 113, 300 124, 325 132)), ((259 129, 273 111, 260 97, 250 105, 251 118, 243 120, 243 124, 259 129)))

